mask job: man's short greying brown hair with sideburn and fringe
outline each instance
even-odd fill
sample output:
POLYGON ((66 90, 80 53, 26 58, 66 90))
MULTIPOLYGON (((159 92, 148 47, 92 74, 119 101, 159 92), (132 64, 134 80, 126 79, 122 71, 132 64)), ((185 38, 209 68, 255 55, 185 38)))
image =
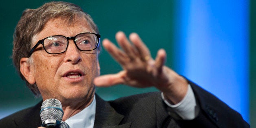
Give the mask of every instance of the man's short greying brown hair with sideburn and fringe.
MULTIPOLYGON (((15 68, 20 74, 20 77, 25 81, 26 79, 20 73, 20 59, 22 57, 28 57, 35 35, 44 29, 44 26, 49 20, 55 18, 62 18, 66 20, 68 24, 72 24, 75 18, 86 18, 93 31, 99 34, 99 30, 90 15, 85 13, 81 7, 69 2, 48 2, 38 9, 24 10, 13 34, 12 57, 15 68)), ((100 46, 98 50, 99 49, 100 46)), ((29 62, 31 62, 30 58, 29 62)), ((26 85, 34 95, 40 95, 36 84, 31 85, 26 81, 26 85)))

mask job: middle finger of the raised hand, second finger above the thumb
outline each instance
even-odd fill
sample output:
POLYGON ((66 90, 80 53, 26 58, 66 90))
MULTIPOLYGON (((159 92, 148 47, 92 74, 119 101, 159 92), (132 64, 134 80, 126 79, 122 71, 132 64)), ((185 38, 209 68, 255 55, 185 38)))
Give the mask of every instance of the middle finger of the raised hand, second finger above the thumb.
POLYGON ((116 40, 119 46, 130 57, 131 60, 134 60, 137 57, 138 55, 137 49, 129 42, 129 40, 126 38, 126 35, 123 32, 121 31, 117 32, 116 40))

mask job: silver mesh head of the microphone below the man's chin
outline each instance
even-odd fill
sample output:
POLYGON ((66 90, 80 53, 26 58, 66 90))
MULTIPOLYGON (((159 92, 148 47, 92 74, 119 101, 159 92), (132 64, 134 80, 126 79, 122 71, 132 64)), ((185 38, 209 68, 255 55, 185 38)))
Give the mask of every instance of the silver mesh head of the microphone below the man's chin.
POLYGON ((62 105, 57 99, 46 99, 41 106, 40 117, 43 126, 60 125, 63 117, 62 105))

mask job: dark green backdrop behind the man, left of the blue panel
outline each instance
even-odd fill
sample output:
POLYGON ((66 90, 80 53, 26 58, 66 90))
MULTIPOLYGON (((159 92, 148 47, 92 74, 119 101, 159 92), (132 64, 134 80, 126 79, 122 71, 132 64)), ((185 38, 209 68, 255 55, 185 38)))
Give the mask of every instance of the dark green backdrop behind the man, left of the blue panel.
MULTIPOLYGON (((0 86, 0 117, 4 113, 20 110, 31 106, 41 98, 36 98, 18 76, 12 64, 12 35, 15 26, 27 8, 35 9, 47 1, 44 0, 8 0, 0 4, 1 51, 1 86, 0 86)), ((173 5, 170 0, 70 0, 89 13, 99 27, 102 39, 108 38, 115 42, 115 33, 124 31, 127 35, 137 32, 151 54, 155 57, 157 50, 164 48, 168 59, 166 65, 172 67, 173 42, 173 5)), ((121 67, 103 49, 99 57, 101 74, 117 73, 121 67)), ((97 93, 104 99, 115 99, 131 94, 155 91, 155 88, 132 88, 124 85, 110 88, 97 88, 97 93)))

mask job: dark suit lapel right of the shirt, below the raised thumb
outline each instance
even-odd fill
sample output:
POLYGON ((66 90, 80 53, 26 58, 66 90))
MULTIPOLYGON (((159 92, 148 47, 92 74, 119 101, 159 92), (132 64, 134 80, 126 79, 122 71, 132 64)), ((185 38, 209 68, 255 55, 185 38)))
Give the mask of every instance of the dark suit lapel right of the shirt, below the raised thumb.
POLYGON ((124 115, 115 111, 110 104, 96 95, 95 128, 130 128, 131 123, 119 125, 124 115))

